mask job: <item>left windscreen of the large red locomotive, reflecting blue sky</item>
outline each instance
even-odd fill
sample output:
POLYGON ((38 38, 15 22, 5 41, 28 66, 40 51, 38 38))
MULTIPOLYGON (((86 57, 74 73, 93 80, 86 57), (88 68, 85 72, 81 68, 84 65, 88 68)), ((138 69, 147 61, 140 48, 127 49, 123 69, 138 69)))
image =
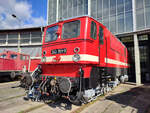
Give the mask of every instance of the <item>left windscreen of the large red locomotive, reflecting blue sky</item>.
POLYGON ((57 35, 58 26, 53 26, 47 29, 45 42, 55 41, 58 38, 57 35))

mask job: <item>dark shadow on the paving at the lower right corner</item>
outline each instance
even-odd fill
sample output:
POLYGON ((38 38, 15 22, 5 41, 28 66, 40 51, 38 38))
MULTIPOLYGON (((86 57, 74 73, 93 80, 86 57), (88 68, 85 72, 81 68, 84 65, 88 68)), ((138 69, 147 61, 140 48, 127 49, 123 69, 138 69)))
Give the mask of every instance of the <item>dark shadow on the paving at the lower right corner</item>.
POLYGON ((132 88, 127 92, 110 95, 106 99, 121 104, 122 108, 133 107, 137 110, 137 113, 150 113, 150 84, 132 88))

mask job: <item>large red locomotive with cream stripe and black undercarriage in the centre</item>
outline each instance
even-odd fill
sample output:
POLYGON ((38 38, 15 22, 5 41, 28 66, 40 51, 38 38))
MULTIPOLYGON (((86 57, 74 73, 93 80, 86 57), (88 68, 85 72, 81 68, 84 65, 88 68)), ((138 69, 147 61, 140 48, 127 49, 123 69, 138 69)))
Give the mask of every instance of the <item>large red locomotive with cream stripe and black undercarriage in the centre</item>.
POLYGON ((28 97, 89 102, 126 81, 128 67, 127 48, 103 24, 88 16, 60 21, 45 27, 42 61, 28 97))

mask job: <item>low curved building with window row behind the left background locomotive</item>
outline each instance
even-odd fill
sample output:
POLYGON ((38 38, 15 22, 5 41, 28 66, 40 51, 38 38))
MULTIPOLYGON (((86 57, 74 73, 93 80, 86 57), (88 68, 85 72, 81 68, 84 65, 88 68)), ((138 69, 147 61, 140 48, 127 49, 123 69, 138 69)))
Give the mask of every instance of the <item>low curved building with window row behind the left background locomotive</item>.
POLYGON ((28 54, 31 57, 39 57, 41 42, 40 27, 0 30, 0 52, 11 50, 28 54))

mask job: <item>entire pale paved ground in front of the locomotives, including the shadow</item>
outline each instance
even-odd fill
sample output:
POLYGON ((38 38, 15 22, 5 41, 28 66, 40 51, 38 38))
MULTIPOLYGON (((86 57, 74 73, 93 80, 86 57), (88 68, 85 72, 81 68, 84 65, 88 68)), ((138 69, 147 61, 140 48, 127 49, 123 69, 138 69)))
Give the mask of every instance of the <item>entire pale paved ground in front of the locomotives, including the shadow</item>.
POLYGON ((65 99, 25 101, 19 81, 0 83, 0 113, 150 113, 150 85, 120 84, 113 91, 82 106, 65 99))

